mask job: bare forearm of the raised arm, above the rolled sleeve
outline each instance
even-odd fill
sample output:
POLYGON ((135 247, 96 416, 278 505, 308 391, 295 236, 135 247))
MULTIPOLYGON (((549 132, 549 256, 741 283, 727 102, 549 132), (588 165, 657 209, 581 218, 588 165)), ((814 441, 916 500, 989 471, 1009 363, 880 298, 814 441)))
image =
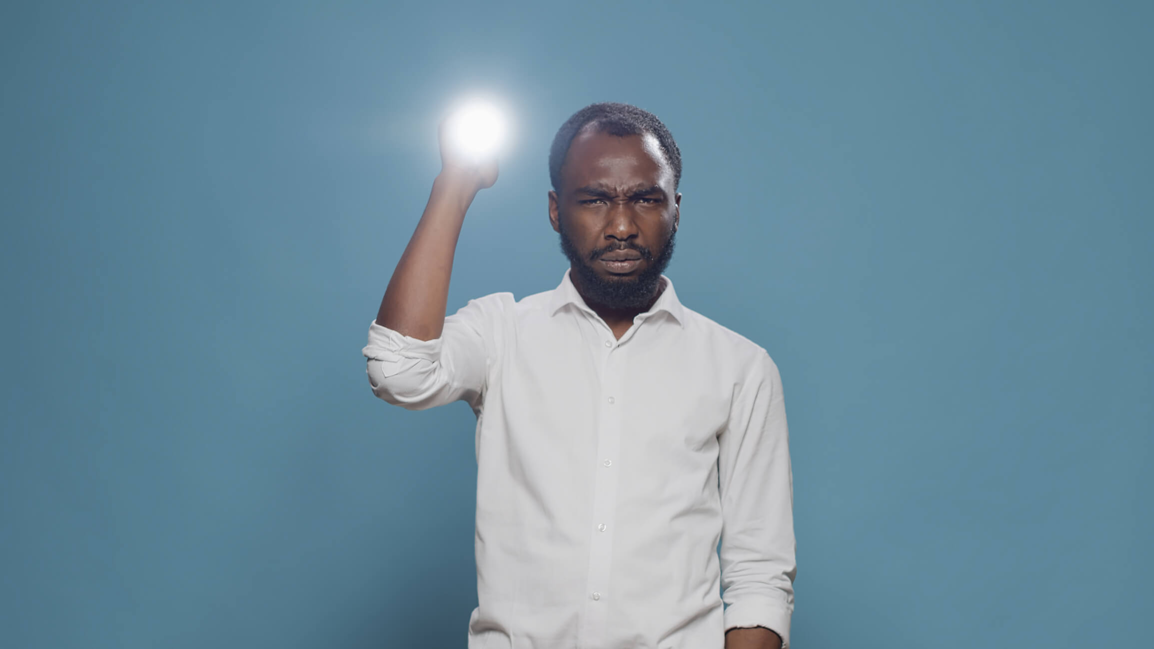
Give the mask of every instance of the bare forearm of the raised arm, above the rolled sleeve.
POLYGON ((376 324, 417 338, 441 337, 449 279, 465 212, 477 195, 469 179, 442 172, 376 314, 376 324))

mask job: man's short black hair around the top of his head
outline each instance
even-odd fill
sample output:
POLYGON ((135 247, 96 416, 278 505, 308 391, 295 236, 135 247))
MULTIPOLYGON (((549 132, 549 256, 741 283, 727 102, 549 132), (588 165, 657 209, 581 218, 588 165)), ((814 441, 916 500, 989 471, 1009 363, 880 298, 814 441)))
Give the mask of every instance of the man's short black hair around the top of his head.
POLYGON ((553 182, 555 191, 561 191, 561 165, 564 164, 565 156, 569 154, 569 144, 580 133, 580 129, 589 124, 595 124, 594 128, 598 133, 607 133, 617 137, 653 134, 666 160, 673 167, 673 189, 676 191, 677 186, 681 184, 681 150, 673 141, 673 134, 653 113, 615 101, 590 104, 574 113, 557 129, 557 135, 553 138, 553 146, 549 149, 549 181, 553 182))

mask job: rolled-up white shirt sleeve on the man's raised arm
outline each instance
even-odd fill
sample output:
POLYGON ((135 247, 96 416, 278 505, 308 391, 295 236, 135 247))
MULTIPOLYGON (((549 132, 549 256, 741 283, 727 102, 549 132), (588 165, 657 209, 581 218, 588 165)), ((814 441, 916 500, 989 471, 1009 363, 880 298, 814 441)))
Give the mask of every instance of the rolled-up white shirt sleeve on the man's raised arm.
POLYGON ((495 293, 470 300, 444 318, 440 338, 420 340, 373 320, 366 373, 373 394, 410 410, 424 410, 457 400, 479 409, 488 368, 497 353, 503 296, 495 293))

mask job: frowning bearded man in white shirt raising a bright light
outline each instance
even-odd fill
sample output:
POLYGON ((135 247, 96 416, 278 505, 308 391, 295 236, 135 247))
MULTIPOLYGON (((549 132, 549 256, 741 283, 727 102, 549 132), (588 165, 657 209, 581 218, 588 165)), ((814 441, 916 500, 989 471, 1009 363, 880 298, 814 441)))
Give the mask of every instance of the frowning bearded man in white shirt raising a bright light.
POLYGON ((683 307, 662 274, 681 205, 668 129, 624 104, 574 114, 549 154, 549 222, 570 263, 561 285, 448 317, 462 221, 497 166, 456 156, 443 128, 441 157, 364 354, 389 403, 460 399, 477 414, 469 648, 787 647, 781 378, 764 348, 683 307))

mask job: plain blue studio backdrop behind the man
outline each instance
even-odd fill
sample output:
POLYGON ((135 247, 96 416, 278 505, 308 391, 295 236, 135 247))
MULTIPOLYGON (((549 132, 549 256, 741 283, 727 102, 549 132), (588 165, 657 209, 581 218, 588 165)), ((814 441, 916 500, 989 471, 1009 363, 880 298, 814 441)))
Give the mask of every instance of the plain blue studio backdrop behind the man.
POLYGON ((548 144, 637 104, 667 274, 769 349, 801 648, 1149 642, 1145 2, 0 12, 0 646, 464 647, 469 407, 360 349, 473 90, 449 309, 561 281, 548 144))

